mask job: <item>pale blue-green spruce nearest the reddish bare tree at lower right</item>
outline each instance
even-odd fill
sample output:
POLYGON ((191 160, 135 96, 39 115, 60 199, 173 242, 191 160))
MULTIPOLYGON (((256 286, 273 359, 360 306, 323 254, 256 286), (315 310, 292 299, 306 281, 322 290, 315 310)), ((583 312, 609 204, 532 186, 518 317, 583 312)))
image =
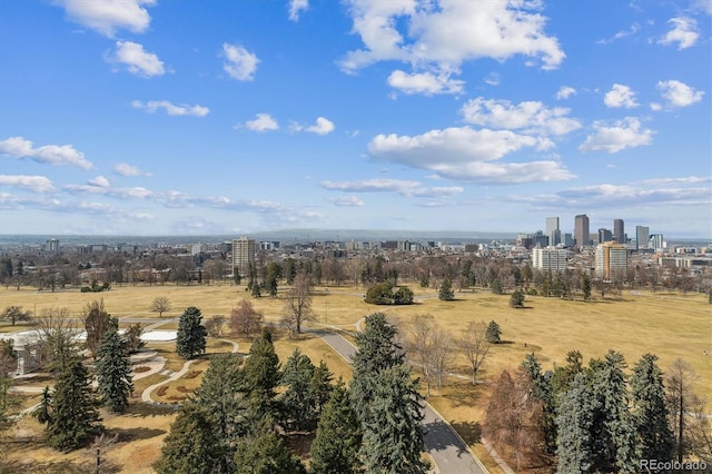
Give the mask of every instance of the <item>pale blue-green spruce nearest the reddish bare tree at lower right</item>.
POLYGON ((581 474, 593 470, 594 453, 591 429, 593 413, 597 408, 587 377, 574 376, 567 392, 563 393, 556 415, 560 474, 581 474))

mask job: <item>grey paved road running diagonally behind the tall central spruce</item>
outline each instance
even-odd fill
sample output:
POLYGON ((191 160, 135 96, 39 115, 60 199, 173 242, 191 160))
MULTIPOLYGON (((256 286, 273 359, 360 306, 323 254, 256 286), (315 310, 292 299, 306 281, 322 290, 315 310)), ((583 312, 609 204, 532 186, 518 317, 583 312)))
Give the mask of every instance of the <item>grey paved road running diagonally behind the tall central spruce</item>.
MULTIPOLYGON (((346 361, 352 362, 356 347, 338 334, 315 329, 314 334, 334 347, 346 361)), ((426 429, 425 447, 435 462, 435 472, 443 474, 485 474, 487 470, 467 448, 453 427, 441 418, 429 404, 425 404, 423 426, 426 429)))

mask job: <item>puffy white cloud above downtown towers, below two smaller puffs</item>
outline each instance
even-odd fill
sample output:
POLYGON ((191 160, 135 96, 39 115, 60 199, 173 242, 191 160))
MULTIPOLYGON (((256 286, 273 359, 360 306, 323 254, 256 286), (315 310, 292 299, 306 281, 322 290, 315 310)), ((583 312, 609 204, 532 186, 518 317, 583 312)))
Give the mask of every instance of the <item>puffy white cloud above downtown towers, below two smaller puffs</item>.
POLYGON ((635 117, 616 120, 611 126, 603 121, 595 121, 593 129, 594 134, 586 137, 586 140, 578 146, 578 150, 616 154, 626 148, 650 145, 655 134, 649 128, 643 128, 635 117))

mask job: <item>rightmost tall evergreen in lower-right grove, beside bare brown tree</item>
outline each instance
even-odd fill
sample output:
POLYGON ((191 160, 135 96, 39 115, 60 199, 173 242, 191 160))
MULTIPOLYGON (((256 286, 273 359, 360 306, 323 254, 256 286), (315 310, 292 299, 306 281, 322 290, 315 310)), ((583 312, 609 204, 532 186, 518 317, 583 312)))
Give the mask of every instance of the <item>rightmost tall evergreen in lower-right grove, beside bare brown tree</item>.
POLYGON ((663 373, 655 361, 655 355, 645 354, 633 367, 631 398, 641 458, 664 462, 673 457, 675 436, 668 418, 663 373))

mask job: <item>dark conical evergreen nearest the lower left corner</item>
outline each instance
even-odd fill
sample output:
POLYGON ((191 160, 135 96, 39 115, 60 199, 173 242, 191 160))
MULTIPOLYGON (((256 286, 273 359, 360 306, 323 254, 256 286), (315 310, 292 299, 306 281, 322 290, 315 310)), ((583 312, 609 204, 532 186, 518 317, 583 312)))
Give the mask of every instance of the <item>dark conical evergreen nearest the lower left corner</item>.
POLYGON ((47 419, 47 444, 58 451, 71 451, 101 433, 89 373, 80 361, 72 361, 57 377, 47 419))

